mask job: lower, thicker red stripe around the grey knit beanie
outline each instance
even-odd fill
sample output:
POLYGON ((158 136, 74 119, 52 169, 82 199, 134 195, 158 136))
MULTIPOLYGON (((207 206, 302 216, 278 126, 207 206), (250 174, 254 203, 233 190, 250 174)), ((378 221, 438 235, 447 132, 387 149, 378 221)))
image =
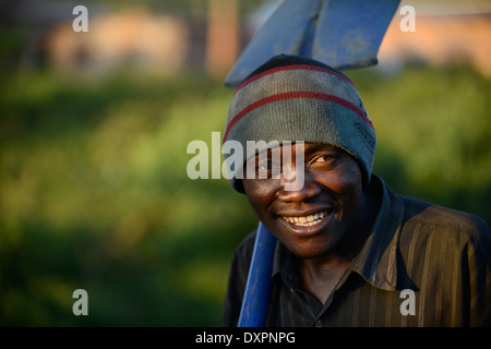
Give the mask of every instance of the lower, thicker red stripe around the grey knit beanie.
POLYGON ((322 93, 315 93, 315 92, 286 92, 286 93, 282 93, 282 94, 277 94, 277 95, 267 96, 267 97, 260 99, 260 100, 253 103, 252 105, 249 105, 246 108, 243 108, 238 115, 236 115, 230 120, 230 123, 228 124, 227 130, 225 130, 223 143, 225 143, 225 141, 227 140, 231 128, 240 119, 242 119, 246 115, 248 115, 252 110, 258 109, 262 106, 265 106, 270 103, 275 103, 275 101, 286 100, 286 99, 294 99, 294 98, 313 98, 313 99, 323 99, 323 100, 327 100, 327 101, 333 101, 345 108, 348 108, 351 111, 355 111, 373 129, 373 131, 375 131, 375 128, 373 127, 372 121, 370 121, 370 119, 364 115, 364 112, 360 108, 358 108, 356 105, 354 105, 352 103, 350 103, 346 99, 339 98, 337 96, 322 94, 322 93))

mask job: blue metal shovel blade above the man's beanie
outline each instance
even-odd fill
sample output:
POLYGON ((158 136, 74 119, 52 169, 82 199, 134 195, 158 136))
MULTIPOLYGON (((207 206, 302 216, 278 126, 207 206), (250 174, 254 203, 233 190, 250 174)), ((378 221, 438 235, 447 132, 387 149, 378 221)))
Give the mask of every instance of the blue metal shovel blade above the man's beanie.
POLYGON ((311 57, 343 70, 376 64, 399 0, 286 0, 246 47, 225 80, 238 86, 276 55, 311 57))

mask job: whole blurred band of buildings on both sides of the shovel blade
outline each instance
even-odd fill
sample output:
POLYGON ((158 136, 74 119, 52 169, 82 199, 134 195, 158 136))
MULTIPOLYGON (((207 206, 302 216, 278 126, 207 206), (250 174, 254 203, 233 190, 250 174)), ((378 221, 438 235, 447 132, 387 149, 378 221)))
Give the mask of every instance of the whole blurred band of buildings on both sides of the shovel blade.
MULTIPOLYGON (((20 68, 43 63, 62 71, 135 67, 173 73, 196 68, 223 77, 279 0, 0 1, 2 32, 24 29, 20 68), (134 5, 133 5, 134 3, 134 5), (75 33, 72 9, 84 4, 88 33, 75 33), (177 9, 177 11, 176 11, 177 9)), ((396 13, 380 50, 380 65, 469 63, 491 76, 491 1, 402 1, 416 12, 416 32, 396 13)))

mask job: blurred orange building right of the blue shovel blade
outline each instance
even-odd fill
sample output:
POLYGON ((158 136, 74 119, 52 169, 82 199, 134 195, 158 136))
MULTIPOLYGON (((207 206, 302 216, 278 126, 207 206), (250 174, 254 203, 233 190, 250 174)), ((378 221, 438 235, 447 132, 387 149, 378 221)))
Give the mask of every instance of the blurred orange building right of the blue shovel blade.
POLYGON ((403 32, 404 15, 394 16, 379 51, 382 69, 467 63, 491 77, 491 1, 402 1, 411 3, 416 31, 403 32))

